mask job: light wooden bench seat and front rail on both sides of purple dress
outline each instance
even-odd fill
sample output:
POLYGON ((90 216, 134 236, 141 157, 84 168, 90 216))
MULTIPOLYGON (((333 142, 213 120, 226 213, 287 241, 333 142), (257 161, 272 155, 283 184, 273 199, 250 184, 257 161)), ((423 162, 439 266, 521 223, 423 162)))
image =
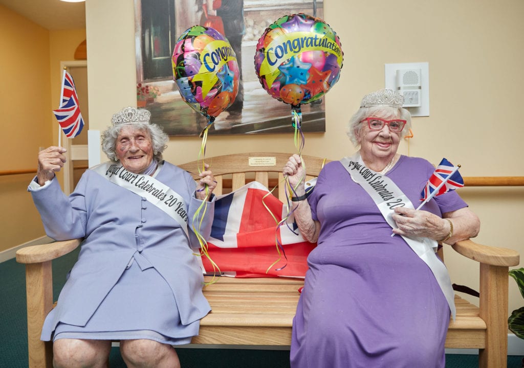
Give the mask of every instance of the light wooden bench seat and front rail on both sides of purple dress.
MULTIPOLYGON (((303 280, 293 278, 220 277, 204 288, 212 311, 201 320, 205 337, 195 337, 193 343, 289 345, 302 285, 303 280), (242 333, 242 340, 221 341, 233 333, 242 333)), ((479 308, 459 295, 455 305, 457 316, 450 320, 446 347, 484 349, 486 323, 479 308)))

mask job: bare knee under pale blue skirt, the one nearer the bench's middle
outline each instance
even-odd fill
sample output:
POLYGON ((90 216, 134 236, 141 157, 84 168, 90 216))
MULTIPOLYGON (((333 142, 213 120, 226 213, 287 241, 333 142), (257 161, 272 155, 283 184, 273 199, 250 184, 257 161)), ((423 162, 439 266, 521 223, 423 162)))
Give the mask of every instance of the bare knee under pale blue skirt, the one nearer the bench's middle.
POLYGON ((154 340, 122 340, 120 353, 128 368, 180 368, 174 348, 154 340))

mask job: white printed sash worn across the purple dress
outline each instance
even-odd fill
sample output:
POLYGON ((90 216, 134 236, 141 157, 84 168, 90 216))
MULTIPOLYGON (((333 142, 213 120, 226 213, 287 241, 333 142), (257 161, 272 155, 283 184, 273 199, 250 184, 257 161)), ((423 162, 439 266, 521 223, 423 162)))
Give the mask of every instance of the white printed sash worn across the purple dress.
MULTIPOLYGON (((372 197, 380 213, 391 228, 397 227, 395 220, 392 218, 392 214, 395 213, 395 207, 414 208, 409 198, 402 193, 400 188, 389 177, 366 168, 359 152, 356 152, 350 158, 345 157, 340 161, 352 179, 372 197)), ((455 293, 453 292, 450 275, 447 273, 446 267, 435 255, 438 245, 436 240, 422 237, 409 238, 407 236, 402 236, 402 238, 433 272, 436 282, 439 283, 447 304, 450 306, 453 320, 455 320, 455 293)))

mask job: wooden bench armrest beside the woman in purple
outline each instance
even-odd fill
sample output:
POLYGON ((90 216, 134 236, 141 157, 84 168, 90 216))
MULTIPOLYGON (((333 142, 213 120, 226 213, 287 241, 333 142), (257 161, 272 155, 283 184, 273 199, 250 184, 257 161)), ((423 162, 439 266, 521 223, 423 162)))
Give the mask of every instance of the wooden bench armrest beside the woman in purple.
POLYGON ((508 248, 483 246, 471 239, 457 241, 452 248, 469 259, 492 266, 517 266, 520 255, 508 248))

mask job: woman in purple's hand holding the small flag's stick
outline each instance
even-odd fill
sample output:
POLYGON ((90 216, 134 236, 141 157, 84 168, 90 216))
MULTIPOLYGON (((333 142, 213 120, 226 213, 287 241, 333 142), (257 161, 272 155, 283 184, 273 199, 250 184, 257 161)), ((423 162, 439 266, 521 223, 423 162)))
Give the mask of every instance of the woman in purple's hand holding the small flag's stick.
POLYGON ((397 207, 392 217, 397 223, 393 232, 398 235, 439 240, 447 234, 447 222, 428 211, 397 207))

